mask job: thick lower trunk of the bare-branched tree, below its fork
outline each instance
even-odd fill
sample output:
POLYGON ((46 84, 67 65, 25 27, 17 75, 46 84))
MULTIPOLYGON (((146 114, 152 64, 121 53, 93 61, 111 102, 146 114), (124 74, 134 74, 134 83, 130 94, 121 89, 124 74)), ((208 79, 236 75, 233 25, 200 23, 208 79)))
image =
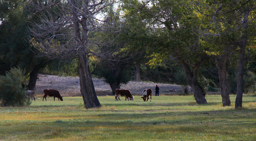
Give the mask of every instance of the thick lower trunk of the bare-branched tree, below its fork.
POLYGON ((78 54, 80 92, 84 100, 85 108, 98 108, 101 107, 101 105, 94 89, 88 60, 88 56, 78 54))

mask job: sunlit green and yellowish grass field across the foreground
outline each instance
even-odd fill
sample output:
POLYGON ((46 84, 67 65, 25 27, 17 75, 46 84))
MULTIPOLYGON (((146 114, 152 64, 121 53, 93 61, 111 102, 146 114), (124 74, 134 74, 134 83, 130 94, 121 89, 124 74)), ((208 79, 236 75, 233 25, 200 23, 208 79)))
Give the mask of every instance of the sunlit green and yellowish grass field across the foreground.
MULTIPOLYGON (((39 97, 36 97, 39 98, 39 97)), ((98 97, 102 108, 85 109, 82 97, 36 99, 28 107, 0 108, 0 140, 256 140, 256 97, 244 95, 243 109, 208 104, 193 96, 153 96, 144 102, 98 97)))

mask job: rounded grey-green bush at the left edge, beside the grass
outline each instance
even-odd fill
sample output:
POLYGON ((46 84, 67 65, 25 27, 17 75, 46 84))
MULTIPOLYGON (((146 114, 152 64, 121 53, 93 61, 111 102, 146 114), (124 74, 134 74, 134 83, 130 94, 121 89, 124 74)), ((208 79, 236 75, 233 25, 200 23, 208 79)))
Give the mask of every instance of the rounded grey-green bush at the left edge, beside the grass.
POLYGON ((26 98, 22 71, 12 68, 0 76, 0 106, 25 106, 31 104, 26 98))

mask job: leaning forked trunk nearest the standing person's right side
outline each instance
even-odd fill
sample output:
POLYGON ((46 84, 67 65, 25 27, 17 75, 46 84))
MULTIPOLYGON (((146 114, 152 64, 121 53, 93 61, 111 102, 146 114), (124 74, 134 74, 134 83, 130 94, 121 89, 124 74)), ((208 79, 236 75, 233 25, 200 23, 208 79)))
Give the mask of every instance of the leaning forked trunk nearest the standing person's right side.
POLYGON ((185 72, 188 83, 191 86, 192 91, 194 92, 194 97, 196 99, 196 103, 206 104, 207 101, 204 97, 204 92, 196 81, 197 68, 194 68, 194 70, 192 72, 187 63, 181 62, 181 65, 185 72))

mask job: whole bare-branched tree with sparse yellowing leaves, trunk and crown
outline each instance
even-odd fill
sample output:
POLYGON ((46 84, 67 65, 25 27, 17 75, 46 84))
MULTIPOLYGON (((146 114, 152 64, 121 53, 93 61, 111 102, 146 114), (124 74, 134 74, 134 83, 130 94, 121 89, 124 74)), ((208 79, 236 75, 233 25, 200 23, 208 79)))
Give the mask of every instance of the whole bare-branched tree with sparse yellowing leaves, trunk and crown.
POLYGON ((97 17, 104 14, 104 9, 115 0, 67 0, 44 1, 33 4, 28 10, 38 14, 42 22, 34 24, 31 32, 32 46, 36 48, 36 54, 60 60, 78 58, 80 92, 85 108, 101 107, 96 96, 89 67, 90 56, 107 56, 97 54, 100 51, 96 45, 102 39, 98 39, 100 32, 111 31, 113 22, 104 21, 97 17), (52 12, 54 11, 54 12, 52 12), (100 25, 108 25, 104 28, 100 25))

